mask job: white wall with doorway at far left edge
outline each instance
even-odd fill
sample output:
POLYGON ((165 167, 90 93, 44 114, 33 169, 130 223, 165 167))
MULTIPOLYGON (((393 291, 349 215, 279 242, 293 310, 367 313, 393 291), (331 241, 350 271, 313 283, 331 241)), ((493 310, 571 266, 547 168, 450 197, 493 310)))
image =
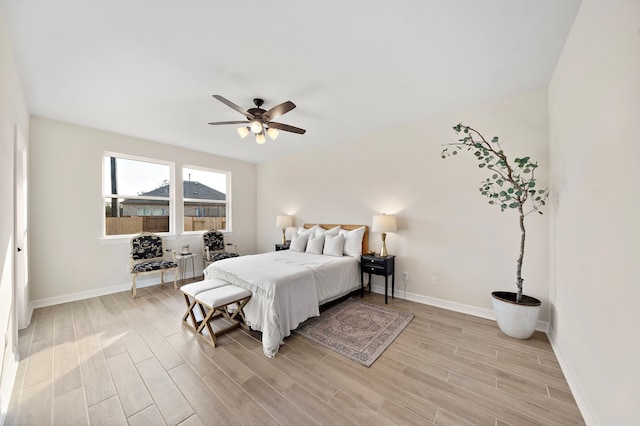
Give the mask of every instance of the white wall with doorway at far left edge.
POLYGON ((0 424, 9 405, 17 370, 17 327, 14 321, 14 135, 29 135, 29 112, 4 14, 0 8, 0 424), (6 343, 5 343, 6 342, 6 343), (4 346, 6 344, 6 347, 4 346))

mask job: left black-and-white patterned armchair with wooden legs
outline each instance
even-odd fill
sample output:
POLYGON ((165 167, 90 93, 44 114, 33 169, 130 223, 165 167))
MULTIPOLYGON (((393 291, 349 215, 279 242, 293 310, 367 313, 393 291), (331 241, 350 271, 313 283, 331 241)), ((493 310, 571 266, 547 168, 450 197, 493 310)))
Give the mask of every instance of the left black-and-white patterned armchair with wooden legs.
POLYGON ((178 288, 178 263, 176 252, 171 250, 172 260, 164 260, 162 237, 151 232, 143 232, 131 238, 131 294, 136 297, 136 277, 140 274, 160 272, 160 281, 164 284, 164 273, 174 271, 173 287, 178 288))

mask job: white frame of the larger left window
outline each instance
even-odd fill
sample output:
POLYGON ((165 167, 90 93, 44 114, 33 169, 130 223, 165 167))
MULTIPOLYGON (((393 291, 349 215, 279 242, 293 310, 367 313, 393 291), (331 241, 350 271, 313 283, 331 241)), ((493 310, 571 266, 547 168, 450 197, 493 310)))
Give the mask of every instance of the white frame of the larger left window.
MULTIPOLYGON (((176 209, 176 205, 177 205, 177 198, 176 198, 176 185, 175 185, 175 162, 173 161, 165 161, 165 160, 160 160, 157 158, 150 158, 150 157, 143 157, 140 155, 131 155, 131 154, 124 154, 121 152, 115 152, 115 151, 104 151, 102 153, 102 157, 101 157, 101 170, 102 170, 102 176, 100 179, 100 183, 101 183, 101 193, 102 193, 102 198, 101 198, 101 217, 102 217, 102 230, 101 232, 101 238, 103 240, 123 240, 123 239, 131 239, 132 236, 137 235, 137 234, 117 234, 117 235, 107 235, 107 217, 105 215, 105 200, 107 198, 132 198, 132 199, 139 199, 139 200, 162 200, 162 201, 169 201, 169 231, 168 232, 156 232, 156 234, 158 235, 162 235, 165 237, 174 237, 176 235, 176 213, 177 213, 177 209, 176 209), (115 157, 115 158, 121 158, 123 160, 130 160, 130 161, 139 161, 139 162, 144 162, 144 163, 152 163, 152 164, 159 164, 162 166, 168 166, 169 167, 169 197, 149 197, 149 196, 140 196, 140 195, 136 195, 136 194, 111 194, 111 193, 106 193, 105 192, 105 182, 104 182, 104 178, 105 178, 105 173, 107 170, 105 170, 105 157, 115 157)), ((184 225, 183 225, 184 226, 184 225)))

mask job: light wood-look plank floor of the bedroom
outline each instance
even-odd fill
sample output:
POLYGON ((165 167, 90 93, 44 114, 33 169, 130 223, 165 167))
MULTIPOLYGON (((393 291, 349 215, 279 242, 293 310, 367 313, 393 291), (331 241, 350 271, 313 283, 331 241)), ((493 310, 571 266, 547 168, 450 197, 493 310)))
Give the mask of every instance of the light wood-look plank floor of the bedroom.
POLYGON ((415 318, 370 368, 296 335, 274 359, 241 329, 213 348, 182 325, 171 285, 37 309, 5 424, 584 424, 544 334, 388 306, 415 318))

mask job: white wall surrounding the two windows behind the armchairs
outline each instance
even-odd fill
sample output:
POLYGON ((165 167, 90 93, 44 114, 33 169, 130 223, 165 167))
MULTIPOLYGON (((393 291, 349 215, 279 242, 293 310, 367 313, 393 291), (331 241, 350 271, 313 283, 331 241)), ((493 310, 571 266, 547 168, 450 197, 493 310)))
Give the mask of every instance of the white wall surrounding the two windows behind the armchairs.
MULTIPOLYGON (((237 243, 241 253, 255 251, 254 164, 32 117, 29 225, 35 306, 130 287, 129 240, 101 239, 105 151, 173 161, 176 170, 189 164, 231 171, 233 233, 226 239, 237 243)), ((177 235, 167 242, 174 249, 187 242, 201 252, 200 235, 177 235)), ((196 274, 202 271, 201 257, 197 260, 196 274)), ((147 277, 147 282, 159 282, 159 276, 147 277)), ((139 282, 144 285, 145 279, 139 282)))

